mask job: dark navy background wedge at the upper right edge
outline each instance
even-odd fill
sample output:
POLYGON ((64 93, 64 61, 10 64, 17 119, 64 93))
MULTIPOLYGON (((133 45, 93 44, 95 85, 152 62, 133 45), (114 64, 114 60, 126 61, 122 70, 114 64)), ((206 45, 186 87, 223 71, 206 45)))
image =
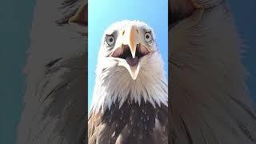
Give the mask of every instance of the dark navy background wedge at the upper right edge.
POLYGON ((231 12, 234 14, 234 20, 238 26, 239 38, 242 38, 244 53, 242 61, 246 70, 250 73, 247 78, 250 95, 256 102, 256 10, 255 0, 230 0, 231 12))

